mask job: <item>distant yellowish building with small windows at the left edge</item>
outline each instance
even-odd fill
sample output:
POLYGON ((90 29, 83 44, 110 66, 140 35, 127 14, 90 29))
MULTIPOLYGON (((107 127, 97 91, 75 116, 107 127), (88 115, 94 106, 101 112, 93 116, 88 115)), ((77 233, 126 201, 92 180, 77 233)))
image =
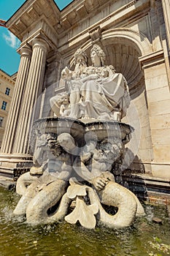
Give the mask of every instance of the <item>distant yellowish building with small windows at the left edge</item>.
POLYGON ((0 147, 15 86, 15 76, 0 69, 0 147))

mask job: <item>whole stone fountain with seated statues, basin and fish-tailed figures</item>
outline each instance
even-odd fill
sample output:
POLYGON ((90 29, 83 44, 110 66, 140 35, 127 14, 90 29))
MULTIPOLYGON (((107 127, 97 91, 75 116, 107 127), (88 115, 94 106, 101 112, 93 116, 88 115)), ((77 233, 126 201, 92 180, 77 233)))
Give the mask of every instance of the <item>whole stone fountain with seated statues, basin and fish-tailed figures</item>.
POLYGON ((50 99, 55 117, 34 122, 31 150, 34 166, 18 178, 21 195, 14 214, 28 223, 80 222, 128 227, 144 209, 134 193, 115 182, 133 127, 121 122, 130 104, 128 85, 115 68, 104 65, 98 45, 90 51, 92 66, 81 48, 75 69, 65 67, 65 91, 50 99), (108 214, 107 207, 114 210, 108 214))

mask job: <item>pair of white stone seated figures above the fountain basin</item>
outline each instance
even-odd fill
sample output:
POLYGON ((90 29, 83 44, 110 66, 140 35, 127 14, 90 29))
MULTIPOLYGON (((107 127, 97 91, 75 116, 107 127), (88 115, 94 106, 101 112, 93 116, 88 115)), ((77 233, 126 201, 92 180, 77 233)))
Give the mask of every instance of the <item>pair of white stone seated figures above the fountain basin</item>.
MULTIPOLYGON (((99 45, 93 45, 90 57, 92 66, 88 67, 85 53, 79 50, 76 61, 80 64, 74 72, 67 67, 62 71, 61 79, 67 81, 70 94, 70 113, 65 116, 120 121, 130 104, 127 82, 112 65, 104 65, 105 54, 99 45)), ((50 101, 54 111, 55 99, 50 101)))

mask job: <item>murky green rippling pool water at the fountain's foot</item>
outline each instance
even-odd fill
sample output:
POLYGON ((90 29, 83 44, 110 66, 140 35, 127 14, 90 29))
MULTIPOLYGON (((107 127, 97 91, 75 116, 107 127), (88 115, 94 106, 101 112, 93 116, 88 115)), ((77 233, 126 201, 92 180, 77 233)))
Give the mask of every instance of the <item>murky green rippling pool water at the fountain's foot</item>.
POLYGON ((61 222, 32 227, 23 217, 14 217, 18 203, 15 192, 0 187, 0 255, 1 256, 164 256, 170 254, 169 217, 164 206, 144 204, 147 215, 136 219, 132 227, 110 230, 96 227, 86 230, 80 225, 61 222), (162 219, 162 225, 152 222, 162 219))

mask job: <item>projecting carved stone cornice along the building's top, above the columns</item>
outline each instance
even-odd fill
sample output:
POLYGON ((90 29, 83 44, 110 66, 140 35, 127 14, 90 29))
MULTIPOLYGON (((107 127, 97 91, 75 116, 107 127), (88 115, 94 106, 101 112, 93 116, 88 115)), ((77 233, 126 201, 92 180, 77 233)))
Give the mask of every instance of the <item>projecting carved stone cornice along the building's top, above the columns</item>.
MULTIPOLYGON (((133 12, 144 10, 150 7, 150 0, 129 0, 127 4, 120 5, 114 10, 114 2, 116 0, 74 0, 68 7, 64 8, 61 12, 58 10, 53 0, 27 0, 15 14, 7 20, 7 28, 15 34, 22 42, 26 41, 42 26, 42 23, 47 24, 47 28, 42 29, 44 34, 53 42, 53 46, 58 45, 58 41, 66 36, 64 39, 67 44, 74 42, 75 37, 81 36, 81 40, 85 37, 91 37, 93 41, 96 40, 97 34, 88 33, 95 31, 97 27, 101 27, 104 31, 110 26, 120 24, 121 20, 126 20, 133 12), (111 8, 112 5, 112 8, 111 8), (104 10, 106 12, 104 12, 104 10), (109 12, 112 10, 112 12, 109 12), (108 15, 109 14, 109 15, 108 15), (96 19, 93 17, 96 16, 96 19), (103 17, 103 18, 98 18, 103 17), (91 26, 89 27, 89 20, 91 26), (43 20, 43 21, 42 21, 43 20), (81 25, 82 22, 87 20, 87 24, 81 25), (81 33, 76 31, 75 37, 74 29, 83 26, 81 33), (72 31, 69 35, 69 31, 72 31)), ((63 43, 62 43, 63 44, 63 43)), ((62 45, 60 44, 60 45, 62 45)))

